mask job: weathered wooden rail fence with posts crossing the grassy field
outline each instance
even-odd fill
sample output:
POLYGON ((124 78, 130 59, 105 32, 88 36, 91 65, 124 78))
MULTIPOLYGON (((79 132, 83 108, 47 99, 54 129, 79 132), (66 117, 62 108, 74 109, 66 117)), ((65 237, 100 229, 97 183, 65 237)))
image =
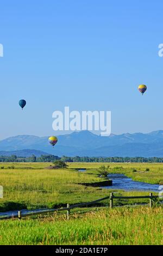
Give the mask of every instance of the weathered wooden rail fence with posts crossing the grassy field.
MULTIPOLYGON (((72 209, 80 208, 80 207, 87 206, 87 205, 94 205, 98 202, 102 202, 102 201, 107 200, 107 199, 110 200, 110 209, 112 209, 114 207, 114 199, 149 199, 149 207, 152 208, 153 199, 156 199, 156 198, 160 198, 160 197, 159 196, 153 196, 152 193, 150 193, 149 196, 131 196, 131 197, 126 197, 126 196, 118 197, 118 196, 114 196, 114 193, 110 193, 110 196, 108 196, 108 197, 103 197, 103 198, 99 198, 99 199, 91 201, 91 202, 76 204, 76 205, 72 205, 72 206, 67 204, 67 207, 60 208, 60 209, 40 210, 40 211, 36 211, 36 212, 29 212, 27 214, 22 214, 21 211, 18 211, 17 215, 15 215, 15 216, 5 216, 5 217, 0 218, 0 220, 8 220, 10 218, 21 219, 23 217, 30 217, 30 216, 36 216, 36 215, 46 215, 46 214, 52 214, 54 212, 62 212, 62 211, 67 212, 67 220, 69 220, 70 212, 71 212, 72 209)), ((163 198, 162 198, 162 200, 163 200, 163 198)))

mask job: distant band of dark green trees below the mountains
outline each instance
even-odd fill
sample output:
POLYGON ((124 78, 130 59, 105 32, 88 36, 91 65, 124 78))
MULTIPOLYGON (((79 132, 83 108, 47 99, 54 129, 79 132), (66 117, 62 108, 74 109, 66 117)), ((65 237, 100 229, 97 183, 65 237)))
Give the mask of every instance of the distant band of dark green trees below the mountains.
POLYGON ((41 155, 36 157, 32 155, 30 157, 18 157, 12 156, 0 156, 0 162, 54 162, 61 160, 63 162, 86 162, 86 163, 163 163, 163 157, 86 157, 86 156, 54 156, 54 155, 41 155))

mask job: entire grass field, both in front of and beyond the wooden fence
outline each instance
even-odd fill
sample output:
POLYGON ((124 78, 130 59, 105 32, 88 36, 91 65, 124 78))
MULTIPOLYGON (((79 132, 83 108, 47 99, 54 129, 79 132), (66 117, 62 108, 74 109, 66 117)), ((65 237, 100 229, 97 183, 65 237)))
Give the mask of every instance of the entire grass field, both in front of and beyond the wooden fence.
MULTIPOLYGON (((159 184, 163 164, 106 163, 110 173, 124 173, 134 180, 159 184), (149 169, 146 172, 146 169, 149 169), (136 172, 133 172, 136 169, 136 172)), ((100 182, 98 168, 102 163, 70 163, 68 169, 45 169, 49 163, 1 163, 0 185, 4 198, 0 211, 15 209, 54 208, 67 203, 89 202, 114 191, 81 185, 100 182), (13 166, 15 169, 9 169, 13 166), (4 167, 4 169, 1 169, 4 167), (77 172, 73 168, 87 168, 77 172)), ((119 195, 138 196, 147 192, 116 191, 119 195)), ((117 205, 148 202, 121 200, 117 205)), ((109 201, 92 208, 73 211, 70 221, 65 215, 29 218, 21 221, 0 221, 0 245, 161 245, 161 206, 106 208, 109 201), (103 206, 101 208, 101 206, 103 206), (102 210, 101 210, 102 209, 102 210), (98 210, 98 211, 97 211, 98 210), (82 214, 82 212, 85 212, 82 214)))

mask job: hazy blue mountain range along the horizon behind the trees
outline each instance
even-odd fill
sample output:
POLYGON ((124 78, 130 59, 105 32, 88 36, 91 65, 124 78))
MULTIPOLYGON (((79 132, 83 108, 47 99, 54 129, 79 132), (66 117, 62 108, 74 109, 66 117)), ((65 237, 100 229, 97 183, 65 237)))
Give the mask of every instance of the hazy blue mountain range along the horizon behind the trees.
POLYGON ((58 136, 58 143, 54 148, 49 145, 48 137, 20 135, 0 141, 0 155, 12 154, 163 157, 163 131, 111 134, 109 137, 98 136, 90 131, 72 132, 58 136))

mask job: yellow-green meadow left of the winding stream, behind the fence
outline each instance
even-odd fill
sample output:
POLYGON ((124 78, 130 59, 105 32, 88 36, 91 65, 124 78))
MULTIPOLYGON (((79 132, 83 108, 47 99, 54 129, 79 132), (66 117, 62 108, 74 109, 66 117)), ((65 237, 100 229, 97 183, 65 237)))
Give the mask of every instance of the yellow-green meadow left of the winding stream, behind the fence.
POLYGON ((11 209, 11 206, 16 209, 16 204, 29 209, 52 208, 93 200, 101 196, 101 191, 78 183, 98 181, 101 179, 97 175, 68 169, 3 169, 0 170, 0 184, 4 188, 4 198, 0 200, 0 209, 11 209))

